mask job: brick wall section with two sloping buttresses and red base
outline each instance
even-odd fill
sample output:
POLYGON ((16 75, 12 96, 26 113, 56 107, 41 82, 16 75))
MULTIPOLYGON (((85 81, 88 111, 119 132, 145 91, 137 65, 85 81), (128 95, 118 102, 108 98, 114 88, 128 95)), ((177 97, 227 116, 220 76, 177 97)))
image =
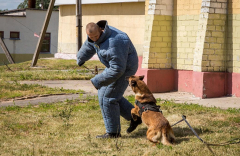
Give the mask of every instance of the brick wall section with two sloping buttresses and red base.
POLYGON ((144 69, 137 75, 152 92, 240 96, 239 2, 174 0, 173 19, 173 0, 146 0, 144 69))

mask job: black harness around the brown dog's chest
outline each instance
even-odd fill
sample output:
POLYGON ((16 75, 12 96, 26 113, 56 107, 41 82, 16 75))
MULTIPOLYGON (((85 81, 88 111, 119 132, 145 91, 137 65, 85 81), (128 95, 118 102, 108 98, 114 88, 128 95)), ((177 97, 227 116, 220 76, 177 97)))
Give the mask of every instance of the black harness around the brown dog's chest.
POLYGON ((162 113, 160 106, 157 106, 155 102, 140 103, 138 100, 136 100, 135 103, 140 109, 138 112, 140 116, 142 116, 143 112, 146 112, 148 110, 162 113))

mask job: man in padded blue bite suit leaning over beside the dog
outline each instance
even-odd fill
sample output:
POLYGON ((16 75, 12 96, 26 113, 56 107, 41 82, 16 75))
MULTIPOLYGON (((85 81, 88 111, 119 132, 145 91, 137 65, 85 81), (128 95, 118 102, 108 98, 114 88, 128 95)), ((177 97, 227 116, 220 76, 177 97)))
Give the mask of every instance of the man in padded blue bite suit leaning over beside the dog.
POLYGON ((126 76, 134 75, 138 69, 137 52, 126 33, 108 26, 107 21, 89 23, 86 26, 87 40, 77 54, 77 63, 83 65, 95 53, 106 66, 105 70, 91 79, 98 90, 106 133, 97 138, 120 137, 120 115, 131 120, 127 133, 131 133, 142 123, 141 118, 133 121, 129 103, 123 94, 128 86, 126 76))

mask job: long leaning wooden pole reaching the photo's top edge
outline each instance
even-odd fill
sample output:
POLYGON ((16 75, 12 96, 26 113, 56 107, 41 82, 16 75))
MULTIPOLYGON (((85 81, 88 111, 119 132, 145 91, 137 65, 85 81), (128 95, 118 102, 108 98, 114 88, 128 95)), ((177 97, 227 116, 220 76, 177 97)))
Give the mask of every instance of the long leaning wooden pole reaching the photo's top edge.
POLYGON ((42 47, 43 39, 45 37, 47 27, 48 27, 48 24, 49 24, 51 15, 52 15, 54 3, 55 3, 55 0, 51 0, 50 4, 48 6, 48 10, 47 10, 45 21, 44 21, 44 24, 43 24, 43 27, 42 27, 42 31, 40 33, 38 43, 37 43, 37 47, 36 47, 35 53, 33 55, 33 60, 32 60, 31 67, 34 67, 37 64, 37 60, 38 60, 38 56, 39 56, 39 53, 40 53, 40 50, 41 50, 41 47, 42 47))

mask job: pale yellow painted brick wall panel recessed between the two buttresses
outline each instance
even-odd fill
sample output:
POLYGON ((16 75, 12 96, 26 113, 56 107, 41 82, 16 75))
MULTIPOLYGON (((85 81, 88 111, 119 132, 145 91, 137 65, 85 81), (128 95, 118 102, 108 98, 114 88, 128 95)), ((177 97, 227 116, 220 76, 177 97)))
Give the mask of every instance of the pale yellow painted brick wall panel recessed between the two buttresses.
POLYGON ((180 15, 173 19, 173 68, 192 70, 199 15, 180 15))

